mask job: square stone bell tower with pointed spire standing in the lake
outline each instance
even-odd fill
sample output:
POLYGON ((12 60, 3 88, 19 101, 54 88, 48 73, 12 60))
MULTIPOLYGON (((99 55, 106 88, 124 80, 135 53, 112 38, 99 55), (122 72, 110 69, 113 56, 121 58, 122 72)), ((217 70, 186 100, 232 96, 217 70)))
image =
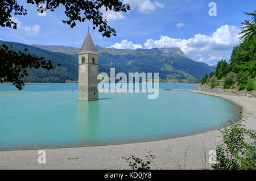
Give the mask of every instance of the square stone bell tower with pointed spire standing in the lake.
POLYGON ((98 100, 98 52, 88 31, 79 52, 79 100, 98 100))

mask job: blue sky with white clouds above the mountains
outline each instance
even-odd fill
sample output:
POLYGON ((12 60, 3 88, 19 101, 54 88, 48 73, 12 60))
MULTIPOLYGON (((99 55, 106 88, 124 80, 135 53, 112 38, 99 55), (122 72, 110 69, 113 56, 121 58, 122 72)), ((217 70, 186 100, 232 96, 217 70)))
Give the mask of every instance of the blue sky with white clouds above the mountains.
MULTIPOLYGON (((64 8, 39 16, 36 5, 18 2, 28 10, 26 16, 14 16, 18 30, 0 27, 0 39, 24 44, 65 45, 81 47, 88 22, 70 28, 64 8)), ((256 7, 255 0, 123 0, 131 5, 127 13, 104 12, 117 36, 102 37, 90 30, 94 44, 114 48, 180 47, 193 60, 209 65, 229 60, 241 22, 256 7), (217 5, 217 16, 209 16, 210 2, 217 5)), ((92 24, 90 24, 92 27, 92 24)))

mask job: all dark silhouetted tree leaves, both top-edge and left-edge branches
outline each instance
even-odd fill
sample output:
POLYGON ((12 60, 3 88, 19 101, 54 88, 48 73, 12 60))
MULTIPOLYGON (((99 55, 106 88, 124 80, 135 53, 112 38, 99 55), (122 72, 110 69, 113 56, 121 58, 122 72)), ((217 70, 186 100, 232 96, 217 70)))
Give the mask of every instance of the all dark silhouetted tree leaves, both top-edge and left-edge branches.
MULTIPOLYGON (((36 6, 39 2, 44 2, 46 9, 51 11, 63 5, 68 19, 62 20, 62 22, 71 28, 76 26, 77 21, 92 20, 93 30, 98 27, 98 31, 102 33, 103 37, 116 36, 116 31, 108 26, 108 20, 102 14, 101 9, 115 12, 130 10, 129 5, 124 5, 119 0, 27 0, 27 3, 36 6)), ((27 15, 27 10, 20 6, 16 0, 0 1, 0 26, 16 29, 17 24, 13 22, 12 15, 27 15)), ((21 90, 24 86, 23 77, 27 76, 27 68, 47 70, 55 68, 53 61, 46 61, 43 57, 31 56, 23 51, 17 53, 10 48, 6 45, 0 47, 0 83, 13 82, 13 85, 21 90)))

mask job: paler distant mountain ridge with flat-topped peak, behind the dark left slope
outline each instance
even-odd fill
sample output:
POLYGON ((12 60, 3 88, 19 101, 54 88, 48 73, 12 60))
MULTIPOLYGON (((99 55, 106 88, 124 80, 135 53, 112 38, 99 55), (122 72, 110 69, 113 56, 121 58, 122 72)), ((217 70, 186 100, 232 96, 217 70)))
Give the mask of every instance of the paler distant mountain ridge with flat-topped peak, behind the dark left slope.
MULTIPOLYGON (((54 52, 72 54, 78 57, 79 48, 34 45, 54 52)), ((171 81, 195 82, 214 68, 191 60, 180 48, 152 48, 152 49, 115 49, 96 45, 100 54, 100 65, 105 68, 116 68, 125 73, 143 71, 159 72, 160 78, 171 81)))

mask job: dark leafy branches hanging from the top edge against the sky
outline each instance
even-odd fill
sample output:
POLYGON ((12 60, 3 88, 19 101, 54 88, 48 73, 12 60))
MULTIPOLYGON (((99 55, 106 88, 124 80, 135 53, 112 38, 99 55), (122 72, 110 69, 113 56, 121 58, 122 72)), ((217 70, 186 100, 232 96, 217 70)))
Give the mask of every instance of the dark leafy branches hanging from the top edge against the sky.
MULTIPOLYGON (((67 20, 62 20, 71 28, 76 26, 76 22, 85 22, 92 20, 93 30, 98 27, 98 31, 102 32, 102 36, 116 36, 114 28, 108 26, 108 20, 102 14, 101 9, 113 10, 115 12, 127 12, 130 5, 125 5, 119 0, 27 0, 27 3, 38 5, 44 2, 47 10, 54 11, 57 7, 63 5, 65 7, 65 15, 67 20)), ((16 0, 0 1, 0 25, 16 29, 16 23, 13 22, 12 14, 27 15, 27 10, 20 6, 16 0)))

